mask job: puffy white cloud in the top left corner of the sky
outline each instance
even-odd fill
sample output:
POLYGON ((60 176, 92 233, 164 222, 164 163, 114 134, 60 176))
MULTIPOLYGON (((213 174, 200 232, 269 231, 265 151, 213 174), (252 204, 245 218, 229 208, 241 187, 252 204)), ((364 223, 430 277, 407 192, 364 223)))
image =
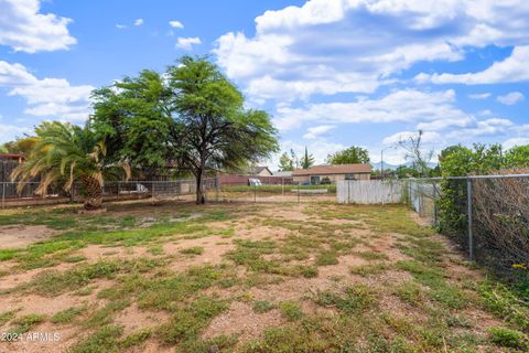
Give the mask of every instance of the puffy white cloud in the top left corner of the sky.
POLYGON ((0 45, 17 52, 66 50, 77 41, 68 32, 71 19, 40 13, 40 0, 0 0, 0 45))

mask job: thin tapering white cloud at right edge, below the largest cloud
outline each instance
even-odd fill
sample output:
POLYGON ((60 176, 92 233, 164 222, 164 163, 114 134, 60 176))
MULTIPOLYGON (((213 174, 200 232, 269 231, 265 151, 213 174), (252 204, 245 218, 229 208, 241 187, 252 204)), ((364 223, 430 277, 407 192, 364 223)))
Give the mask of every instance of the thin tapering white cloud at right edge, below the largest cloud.
MULTIPOLYGON (((527 21, 529 23, 529 21, 527 21)), ((529 30, 529 29, 528 29, 529 30)), ((528 36, 529 38, 529 36, 528 36)), ((419 74, 415 81, 419 83, 431 82, 434 84, 497 84, 529 81, 529 45, 516 46, 509 57, 495 62, 486 69, 478 73, 467 74, 419 74)))

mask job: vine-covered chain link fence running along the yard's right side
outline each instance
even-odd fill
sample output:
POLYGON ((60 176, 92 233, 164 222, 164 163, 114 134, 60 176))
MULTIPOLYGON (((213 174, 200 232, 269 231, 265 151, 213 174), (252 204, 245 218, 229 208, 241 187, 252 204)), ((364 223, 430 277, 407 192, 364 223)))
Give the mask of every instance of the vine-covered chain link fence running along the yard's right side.
POLYGON ((529 175, 407 181, 406 202, 474 260, 501 277, 527 276, 529 175))

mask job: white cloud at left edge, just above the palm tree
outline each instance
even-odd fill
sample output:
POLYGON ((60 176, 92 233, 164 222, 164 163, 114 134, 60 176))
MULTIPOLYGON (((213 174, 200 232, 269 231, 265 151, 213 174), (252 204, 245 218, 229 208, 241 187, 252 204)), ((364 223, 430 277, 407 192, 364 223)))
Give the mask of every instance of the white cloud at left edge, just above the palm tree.
POLYGON ((72 86, 64 78, 39 79, 21 64, 0 61, 0 87, 9 89, 8 96, 23 97, 28 103, 24 113, 39 117, 53 117, 82 121, 88 117, 93 86, 72 86))

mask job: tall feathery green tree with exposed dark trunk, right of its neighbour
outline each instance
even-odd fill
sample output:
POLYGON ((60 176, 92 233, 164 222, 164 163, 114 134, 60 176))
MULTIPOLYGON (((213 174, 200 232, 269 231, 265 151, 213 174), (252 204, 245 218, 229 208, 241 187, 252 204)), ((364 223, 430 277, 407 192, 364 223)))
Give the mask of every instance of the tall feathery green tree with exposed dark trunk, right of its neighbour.
POLYGON ((204 203, 207 170, 239 169, 278 150, 277 130, 262 110, 246 110, 242 94, 205 58, 184 56, 169 68, 174 92, 173 141, 179 163, 196 179, 204 203))

